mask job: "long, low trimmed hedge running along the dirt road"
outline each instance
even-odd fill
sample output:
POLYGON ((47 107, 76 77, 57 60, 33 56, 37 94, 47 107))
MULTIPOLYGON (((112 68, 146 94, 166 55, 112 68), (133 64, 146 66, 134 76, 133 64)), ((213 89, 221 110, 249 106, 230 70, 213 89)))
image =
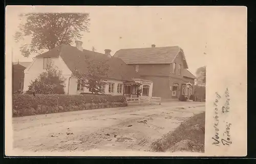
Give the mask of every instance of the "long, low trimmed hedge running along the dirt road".
POLYGON ((124 96, 13 94, 13 117, 127 106, 124 96))

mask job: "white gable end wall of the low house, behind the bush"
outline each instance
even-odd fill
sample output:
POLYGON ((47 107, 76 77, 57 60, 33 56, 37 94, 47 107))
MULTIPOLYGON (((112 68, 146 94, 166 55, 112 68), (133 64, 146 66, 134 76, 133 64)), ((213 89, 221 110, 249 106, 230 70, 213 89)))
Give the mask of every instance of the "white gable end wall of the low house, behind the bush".
MULTIPOLYGON (((66 87, 64 89, 65 93, 68 93, 68 80, 71 76, 72 72, 67 67, 65 62, 62 60, 61 57, 58 58, 51 58, 51 61, 54 66, 57 67, 57 69, 62 70, 63 77, 66 78, 66 87)), ((31 65, 24 70, 25 76, 24 76, 24 91, 26 92, 28 90, 28 87, 30 86, 30 83, 32 80, 35 80, 42 72, 45 72, 46 70, 43 69, 44 59, 43 58, 35 58, 31 65)))

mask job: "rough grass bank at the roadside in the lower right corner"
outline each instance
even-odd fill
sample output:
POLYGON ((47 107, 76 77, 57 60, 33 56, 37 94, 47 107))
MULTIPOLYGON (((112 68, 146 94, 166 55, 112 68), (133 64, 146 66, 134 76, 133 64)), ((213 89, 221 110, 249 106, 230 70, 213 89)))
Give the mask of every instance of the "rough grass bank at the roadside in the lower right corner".
MULTIPOLYGON (((151 146, 155 152, 165 152, 170 150, 180 141, 190 140, 195 143, 195 152, 204 152, 204 129, 205 112, 194 115, 181 123, 174 131, 165 134, 162 139, 154 142, 151 146), (193 128, 194 125, 200 125, 202 129, 193 128)), ((189 151, 189 150, 187 150, 189 151)))

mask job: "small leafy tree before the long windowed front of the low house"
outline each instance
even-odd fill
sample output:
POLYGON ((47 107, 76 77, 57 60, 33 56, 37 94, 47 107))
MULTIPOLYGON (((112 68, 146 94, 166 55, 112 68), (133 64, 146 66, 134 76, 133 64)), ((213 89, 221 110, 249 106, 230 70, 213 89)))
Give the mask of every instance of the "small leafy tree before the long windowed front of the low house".
POLYGON ((89 91, 93 94, 104 93, 105 92, 105 84, 106 79, 108 79, 108 74, 110 67, 107 64, 108 61, 94 61, 92 59, 86 58, 86 62, 88 64, 88 72, 81 73, 79 71, 75 71, 74 75, 78 79, 83 79, 82 85, 89 89, 89 91))

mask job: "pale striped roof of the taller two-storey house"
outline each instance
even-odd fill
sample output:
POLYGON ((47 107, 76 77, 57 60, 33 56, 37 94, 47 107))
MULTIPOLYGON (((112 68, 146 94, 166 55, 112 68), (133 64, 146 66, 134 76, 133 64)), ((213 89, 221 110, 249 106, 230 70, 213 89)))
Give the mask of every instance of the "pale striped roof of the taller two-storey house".
POLYGON ((182 52, 187 67, 183 50, 179 46, 120 49, 114 57, 126 64, 170 64, 179 52, 182 52))

